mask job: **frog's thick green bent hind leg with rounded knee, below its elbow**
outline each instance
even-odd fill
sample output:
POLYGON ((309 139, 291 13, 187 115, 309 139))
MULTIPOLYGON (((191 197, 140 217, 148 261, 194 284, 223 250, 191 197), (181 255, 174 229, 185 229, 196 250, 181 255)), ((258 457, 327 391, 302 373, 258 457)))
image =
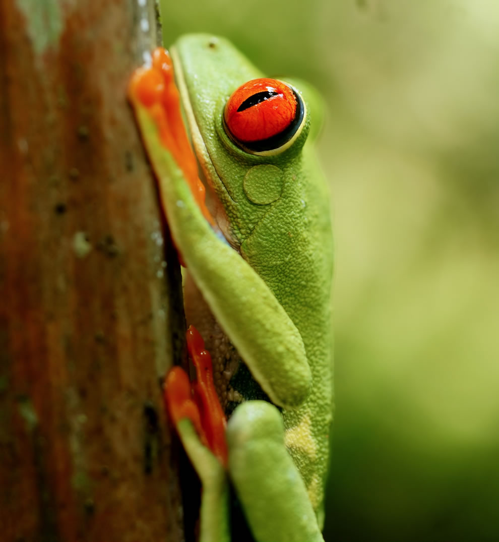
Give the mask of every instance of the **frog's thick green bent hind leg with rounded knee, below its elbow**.
POLYGON ((258 541, 323 541, 307 490, 284 446, 280 412, 242 403, 227 427, 229 472, 258 541))

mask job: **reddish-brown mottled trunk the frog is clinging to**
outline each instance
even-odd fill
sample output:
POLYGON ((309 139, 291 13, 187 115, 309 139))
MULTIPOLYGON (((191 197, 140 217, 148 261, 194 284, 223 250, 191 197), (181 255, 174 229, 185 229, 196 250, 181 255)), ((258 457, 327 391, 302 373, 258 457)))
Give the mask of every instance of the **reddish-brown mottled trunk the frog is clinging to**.
POLYGON ((0 0, 2 540, 182 539, 132 4, 0 0))

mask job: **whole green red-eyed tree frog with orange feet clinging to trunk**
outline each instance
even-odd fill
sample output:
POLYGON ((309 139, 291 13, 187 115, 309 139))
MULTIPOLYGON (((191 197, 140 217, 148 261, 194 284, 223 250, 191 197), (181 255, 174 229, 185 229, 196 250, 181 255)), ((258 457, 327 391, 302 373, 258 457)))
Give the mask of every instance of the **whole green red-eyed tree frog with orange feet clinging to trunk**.
POLYGON ((255 540, 323 540, 333 260, 320 107, 222 38, 184 36, 170 53, 154 51, 129 98, 188 272, 197 380, 174 367, 166 401, 203 484, 199 539, 237 540, 230 480, 255 540))

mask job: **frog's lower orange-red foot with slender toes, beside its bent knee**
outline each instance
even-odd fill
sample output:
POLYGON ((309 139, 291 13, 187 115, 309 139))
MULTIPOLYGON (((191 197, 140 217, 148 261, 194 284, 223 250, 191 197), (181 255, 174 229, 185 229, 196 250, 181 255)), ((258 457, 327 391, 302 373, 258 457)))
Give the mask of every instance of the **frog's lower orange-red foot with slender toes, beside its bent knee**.
POLYGON ((173 423, 182 418, 189 418, 202 442, 207 444, 219 461, 226 466, 228 459, 225 441, 226 419, 213 384, 211 356, 204 349, 203 338, 195 327, 189 327, 186 339, 187 349, 196 367, 197 380, 191 384, 181 367, 173 367, 166 378, 166 405, 173 423))

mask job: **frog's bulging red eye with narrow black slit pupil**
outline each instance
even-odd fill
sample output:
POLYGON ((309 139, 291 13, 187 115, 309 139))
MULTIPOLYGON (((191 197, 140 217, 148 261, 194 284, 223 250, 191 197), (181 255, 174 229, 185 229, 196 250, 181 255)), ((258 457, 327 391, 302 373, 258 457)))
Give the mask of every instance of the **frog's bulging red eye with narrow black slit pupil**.
MULTIPOLYGON (((291 87, 276 79, 253 79, 237 88, 225 104, 225 131, 252 153, 279 151, 301 130, 304 106, 291 87)), ((283 149, 284 150, 284 149, 283 149)))

